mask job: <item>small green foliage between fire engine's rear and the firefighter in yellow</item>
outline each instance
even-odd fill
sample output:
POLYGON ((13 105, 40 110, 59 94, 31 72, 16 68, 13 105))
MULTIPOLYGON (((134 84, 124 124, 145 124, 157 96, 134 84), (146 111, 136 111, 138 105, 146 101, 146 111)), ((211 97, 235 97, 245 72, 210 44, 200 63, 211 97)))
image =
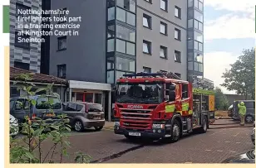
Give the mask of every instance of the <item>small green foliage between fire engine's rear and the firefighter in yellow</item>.
POLYGON ((218 110, 227 110, 229 108, 229 100, 223 94, 222 90, 216 87, 215 92, 215 108, 218 110))

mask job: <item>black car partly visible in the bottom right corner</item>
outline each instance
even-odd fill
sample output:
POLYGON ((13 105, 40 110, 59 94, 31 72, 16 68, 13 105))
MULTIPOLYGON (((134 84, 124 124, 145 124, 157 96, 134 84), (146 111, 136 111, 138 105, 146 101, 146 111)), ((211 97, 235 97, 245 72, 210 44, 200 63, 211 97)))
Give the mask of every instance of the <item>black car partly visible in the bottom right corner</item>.
POLYGON ((255 150, 246 151, 239 155, 229 157, 222 161, 222 163, 254 163, 255 164, 255 150))

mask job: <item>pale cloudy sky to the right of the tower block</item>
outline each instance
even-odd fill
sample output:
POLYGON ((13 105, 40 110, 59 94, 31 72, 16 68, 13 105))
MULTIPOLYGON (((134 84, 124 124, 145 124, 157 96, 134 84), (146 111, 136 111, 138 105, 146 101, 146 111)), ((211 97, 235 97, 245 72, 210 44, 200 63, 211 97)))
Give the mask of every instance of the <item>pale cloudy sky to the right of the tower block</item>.
POLYGON ((219 84, 242 50, 256 46, 256 0, 204 0, 204 78, 224 94, 235 94, 219 84))

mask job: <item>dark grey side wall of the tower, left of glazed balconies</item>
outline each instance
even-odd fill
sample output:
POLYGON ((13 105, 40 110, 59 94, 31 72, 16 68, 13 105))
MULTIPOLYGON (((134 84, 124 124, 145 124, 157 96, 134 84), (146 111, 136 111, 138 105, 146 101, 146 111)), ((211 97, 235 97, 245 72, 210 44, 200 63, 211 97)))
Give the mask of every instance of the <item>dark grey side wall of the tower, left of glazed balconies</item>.
POLYGON ((52 9, 65 7, 68 17, 81 16, 79 36, 66 36, 66 50, 58 50, 58 36, 51 36, 50 74, 66 65, 66 79, 106 83, 106 1, 52 1, 52 9))

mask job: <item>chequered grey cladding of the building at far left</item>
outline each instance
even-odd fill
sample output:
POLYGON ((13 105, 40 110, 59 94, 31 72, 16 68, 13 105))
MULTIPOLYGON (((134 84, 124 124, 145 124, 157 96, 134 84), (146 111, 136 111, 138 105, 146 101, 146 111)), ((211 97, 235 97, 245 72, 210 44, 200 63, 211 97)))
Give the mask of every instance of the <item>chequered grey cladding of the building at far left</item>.
MULTIPOLYGON (((42 0, 10 0, 10 65, 12 67, 16 63, 26 65, 27 69, 40 73, 41 43, 31 42, 29 47, 22 47, 15 42, 16 32, 21 30, 17 27, 16 10, 18 5, 38 10, 42 7, 42 0)), ((25 29, 23 28, 23 30, 25 29)), ((34 31, 40 30, 35 29, 34 31)))

